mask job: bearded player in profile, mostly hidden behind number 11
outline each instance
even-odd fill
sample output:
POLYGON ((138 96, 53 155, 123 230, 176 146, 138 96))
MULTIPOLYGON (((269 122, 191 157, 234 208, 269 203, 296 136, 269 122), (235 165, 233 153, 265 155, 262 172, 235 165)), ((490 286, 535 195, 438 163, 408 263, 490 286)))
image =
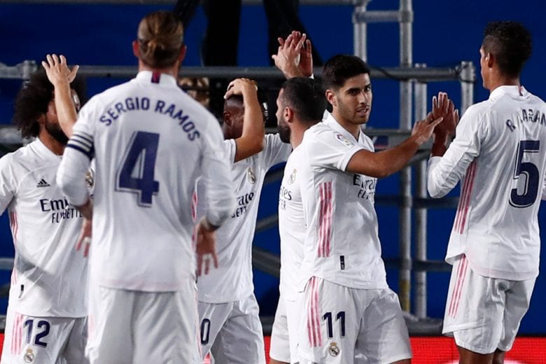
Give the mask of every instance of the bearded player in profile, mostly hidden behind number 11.
POLYGON ((302 149, 299 146, 304 132, 321 121, 326 109, 322 84, 312 78, 290 78, 283 83, 276 105, 279 135, 282 141, 290 143, 293 151, 286 162, 279 192, 281 279, 269 351, 271 364, 297 363, 301 296, 297 290, 306 232, 299 174, 302 149))

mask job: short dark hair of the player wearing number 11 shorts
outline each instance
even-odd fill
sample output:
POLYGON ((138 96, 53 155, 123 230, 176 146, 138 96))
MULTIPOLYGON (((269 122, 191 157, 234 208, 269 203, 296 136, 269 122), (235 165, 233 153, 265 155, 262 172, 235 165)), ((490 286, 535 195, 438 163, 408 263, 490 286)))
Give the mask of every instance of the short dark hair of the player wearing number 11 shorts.
POLYGON ((356 55, 335 55, 328 59, 322 69, 322 82, 327 89, 342 87, 346 80, 363 73, 370 67, 356 55))

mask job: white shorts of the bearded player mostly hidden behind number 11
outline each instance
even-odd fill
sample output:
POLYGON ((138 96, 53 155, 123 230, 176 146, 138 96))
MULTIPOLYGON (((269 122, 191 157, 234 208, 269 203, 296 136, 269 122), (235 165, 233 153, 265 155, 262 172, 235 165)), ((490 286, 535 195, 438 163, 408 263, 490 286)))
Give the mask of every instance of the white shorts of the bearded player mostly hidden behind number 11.
POLYGON ((301 300, 288 300, 281 295, 271 330, 269 357, 284 363, 297 363, 297 325, 301 300))

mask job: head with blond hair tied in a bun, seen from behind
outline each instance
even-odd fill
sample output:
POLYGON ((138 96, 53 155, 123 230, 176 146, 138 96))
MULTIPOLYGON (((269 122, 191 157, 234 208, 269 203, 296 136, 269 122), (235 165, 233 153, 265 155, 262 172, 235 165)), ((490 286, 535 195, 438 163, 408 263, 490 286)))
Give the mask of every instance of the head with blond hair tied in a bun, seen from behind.
POLYGON ((178 69, 186 55, 182 23, 170 11, 149 13, 139 24, 133 52, 148 68, 178 69))

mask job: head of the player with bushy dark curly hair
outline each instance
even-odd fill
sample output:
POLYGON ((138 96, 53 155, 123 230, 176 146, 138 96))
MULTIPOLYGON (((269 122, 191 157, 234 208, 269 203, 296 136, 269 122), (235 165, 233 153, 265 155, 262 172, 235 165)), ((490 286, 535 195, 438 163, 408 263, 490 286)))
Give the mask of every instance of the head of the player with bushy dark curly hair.
MULTIPOLYGON (((72 99, 78 110, 85 94, 83 78, 76 77, 71 87, 72 99)), ((41 132, 46 132, 61 144, 68 141, 57 120, 54 87, 43 69, 33 73, 18 92, 15 98, 13 123, 21 130, 24 138, 38 137, 41 132)))

